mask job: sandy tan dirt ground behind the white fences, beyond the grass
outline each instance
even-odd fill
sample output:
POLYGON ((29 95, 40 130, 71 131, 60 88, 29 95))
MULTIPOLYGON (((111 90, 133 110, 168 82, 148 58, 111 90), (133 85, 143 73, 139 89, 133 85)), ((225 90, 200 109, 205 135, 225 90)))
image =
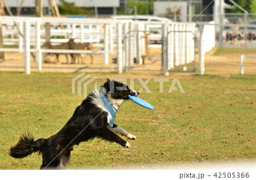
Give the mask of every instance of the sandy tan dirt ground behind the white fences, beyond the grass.
MULTIPOLYGON (((211 52, 205 54, 205 74, 214 75, 230 75, 230 74, 240 74, 240 55, 241 53, 228 53, 225 55, 214 55, 217 48, 214 48, 211 52)), ((161 70, 161 49, 151 48, 150 57, 146 58, 144 65, 135 65, 133 67, 134 71, 142 71, 146 68, 146 73, 144 76, 150 74, 160 74, 161 70)), ((245 55, 255 55, 255 53, 245 54, 245 55)), ((116 58, 115 54, 109 55, 109 65, 104 63, 104 54, 94 55, 93 64, 90 64, 89 54, 84 54, 82 58, 83 63, 71 64, 71 57, 69 55, 69 63, 65 55, 60 54, 60 63, 43 63, 43 72, 111 72, 116 71, 117 64, 113 63, 113 59, 116 58), (113 70, 112 70, 113 69, 113 70)), ((188 69, 192 69, 193 63, 185 65, 188 69)), ((176 67, 179 70, 182 67, 176 67)), ((196 54, 196 68, 199 69, 199 54, 196 54)), ((5 59, 0 60, 0 71, 24 71, 23 64, 23 54, 22 53, 5 53, 5 59)), ((31 71, 38 71, 38 63, 34 61, 31 56, 31 71)), ((175 73, 175 72, 174 72, 175 73)), ((172 73, 172 74, 174 74, 172 73)), ((195 74, 197 72, 193 72, 195 74)), ((256 74, 256 59, 245 59, 244 60, 244 73, 245 74, 256 74)), ((186 73, 189 75, 191 73, 186 73)))

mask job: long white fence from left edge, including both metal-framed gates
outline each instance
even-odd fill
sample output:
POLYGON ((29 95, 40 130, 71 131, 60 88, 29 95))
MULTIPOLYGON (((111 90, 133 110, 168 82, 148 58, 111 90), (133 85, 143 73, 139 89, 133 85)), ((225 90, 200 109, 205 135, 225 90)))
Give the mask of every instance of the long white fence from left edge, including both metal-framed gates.
MULTIPOLYGON (((141 38, 148 34, 149 41, 162 44, 162 70, 170 71, 175 66, 195 62, 195 24, 186 23, 143 23, 132 20, 112 19, 62 19, 27 18, 1 16, 4 45, 16 44, 19 48, 2 48, 0 52, 23 52, 24 68, 30 74, 30 53, 35 53, 39 71, 42 70, 42 53, 92 53, 91 50, 41 49, 44 42, 67 42, 76 38, 80 42, 101 42, 102 50, 94 53, 105 54, 104 63, 108 65, 109 54, 117 55, 117 71, 122 73, 137 64, 142 64, 143 54, 147 54, 146 41, 141 38), (12 28, 19 24, 23 37, 12 28), (9 24, 6 29, 5 24, 9 24), (60 28, 60 24, 64 29, 60 28), (152 33, 154 32, 154 33, 152 33), (157 33, 155 33, 157 32, 157 33), (13 38, 6 38, 7 36, 13 38), (64 36, 64 37, 63 37, 64 36), (103 43, 102 43, 103 42, 103 43), (35 48, 31 49, 31 45, 35 48), (114 46, 117 47, 113 51, 114 46), (104 50, 103 50, 104 49, 104 50), (166 53, 167 52, 167 53, 166 53)), ((159 52, 159 55, 162 52, 159 52)))

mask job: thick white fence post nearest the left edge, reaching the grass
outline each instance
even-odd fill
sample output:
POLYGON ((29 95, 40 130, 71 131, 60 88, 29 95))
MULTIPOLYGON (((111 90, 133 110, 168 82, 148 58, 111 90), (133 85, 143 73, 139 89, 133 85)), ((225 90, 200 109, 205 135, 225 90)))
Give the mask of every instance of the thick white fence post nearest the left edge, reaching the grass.
POLYGON ((23 24, 25 74, 30 74, 30 22, 27 20, 23 24))

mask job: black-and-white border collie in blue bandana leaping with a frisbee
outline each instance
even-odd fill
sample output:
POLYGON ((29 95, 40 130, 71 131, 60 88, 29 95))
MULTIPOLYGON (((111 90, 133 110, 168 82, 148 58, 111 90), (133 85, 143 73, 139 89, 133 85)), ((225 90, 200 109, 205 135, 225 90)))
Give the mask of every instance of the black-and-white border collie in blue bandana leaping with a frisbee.
POLYGON ((132 140, 136 137, 114 124, 115 112, 123 102, 129 100, 128 95, 138 96, 139 92, 129 89, 125 84, 107 79, 100 90, 93 89, 89 93, 57 134, 38 140, 34 140, 29 133, 24 134, 18 143, 11 147, 10 156, 23 158, 39 151, 43 156, 40 169, 63 169, 69 160, 73 145, 93 138, 116 142, 129 148, 130 144, 118 135, 132 140))

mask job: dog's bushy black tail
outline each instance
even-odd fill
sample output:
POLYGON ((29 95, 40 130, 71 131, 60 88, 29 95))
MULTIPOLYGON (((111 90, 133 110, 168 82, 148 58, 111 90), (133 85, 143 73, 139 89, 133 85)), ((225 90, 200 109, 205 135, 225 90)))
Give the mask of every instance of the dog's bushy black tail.
POLYGON ((31 155, 33 152, 42 151, 43 144, 47 139, 34 140, 31 134, 24 134, 20 136, 18 143, 11 147, 9 155, 14 158, 23 158, 31 155))

